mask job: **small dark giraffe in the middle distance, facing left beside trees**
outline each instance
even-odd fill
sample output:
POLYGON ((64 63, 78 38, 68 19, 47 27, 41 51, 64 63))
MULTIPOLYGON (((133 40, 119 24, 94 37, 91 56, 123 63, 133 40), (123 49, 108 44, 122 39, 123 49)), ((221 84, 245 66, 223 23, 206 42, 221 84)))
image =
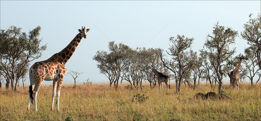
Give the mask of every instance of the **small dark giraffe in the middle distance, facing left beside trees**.
POLYGON ((166 86, 167 86, 167 91, 168 91, 168 88, 170 87, 169 86, 169 83, 170 83, 170 80, 169 80, 169 76, 168 75, 164 75, 162 74, 161 72, 158 72, 154 67, 152 66, 149 66, 148 67, 149 69, 151 68, 152 72, 154 73, 154 76, 156 75, 157 76, 157 80, 158 80, 158 84, 159 84, 159 91, 161 91, 161 87, 162 87, 162 90, 163 90, 163 82, 165 82, 166 86), (160 87, 161 86, 161 87, 160 87))

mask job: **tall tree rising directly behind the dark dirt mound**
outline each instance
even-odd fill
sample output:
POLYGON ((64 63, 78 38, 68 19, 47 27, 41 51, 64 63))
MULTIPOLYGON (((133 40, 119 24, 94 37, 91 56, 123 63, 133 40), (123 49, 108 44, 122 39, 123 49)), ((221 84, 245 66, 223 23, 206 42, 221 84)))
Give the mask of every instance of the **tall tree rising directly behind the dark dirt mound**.
POLYGON ((229 45, 235 43, 235 38, 238 32, 232 28, 225 29, 224 26, 215 24, 212 35, 208 34, 202 50, 202 53, 208 57, 214 72, 219 80, 219 93, 222 90, 223 77, 226 76, 225 72, 231 68, 229 66, 229 59, 236 52, 236 48, 229 49, 229 45), (206 50, 205 50, 206 49, 206 50))

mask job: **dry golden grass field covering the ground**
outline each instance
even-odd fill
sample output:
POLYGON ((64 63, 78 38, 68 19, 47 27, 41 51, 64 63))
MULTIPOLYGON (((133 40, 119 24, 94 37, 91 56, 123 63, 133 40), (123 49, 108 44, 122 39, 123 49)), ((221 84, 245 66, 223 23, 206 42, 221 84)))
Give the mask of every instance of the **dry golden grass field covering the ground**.
POLYGON ((108 84, 63 85, 60 94, 60 112, 50 111, 52 86, 41 86, 37 109, 28 105, 29 87, 18 91, 0 90, 0 120, 261 120, 261 85, 240 84, 239 90, 224 85, 225 100, 193 99, 196 93, 218 92, 210 85, 201 84, 192 89, 181 86, 176 94, 175 85, 168 92, 144 85, 143 90, 131 90, 121 84, 115 90, 108 84), (137 95, 137 99, 133 99, 137 95))

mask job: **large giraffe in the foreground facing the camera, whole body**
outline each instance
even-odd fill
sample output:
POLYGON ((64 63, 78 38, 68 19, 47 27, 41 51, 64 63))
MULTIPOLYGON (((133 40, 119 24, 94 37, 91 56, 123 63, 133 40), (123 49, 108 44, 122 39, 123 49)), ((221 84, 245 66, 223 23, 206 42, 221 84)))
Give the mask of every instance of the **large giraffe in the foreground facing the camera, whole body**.
POLYGON ((74 39, 66 46, 61 52, 54 54, 47 60, 36 62, 29 69, 30 86, 29 86, 29 103, 27 110, 30 111, 30 102, 34 103, 34 109, 37 112, 37 94, 39 88, 43 82, 53 80, 53 93, 52 93, 52 105, 51 111, 53 110, 54 97, 57 99, 57 111, 59 112, 59 96, 61 85, 63 82, 64 75, 66 73, 65 64, 73 55, 75 49, 79 45, 80 41, 86 38, 86 33, 90 29, 78 29, 80 33, 74 37, 74 39), (55 93, 56 92, 56 93, 55 93), (33 102, 34 100, 34 102, 33 102))

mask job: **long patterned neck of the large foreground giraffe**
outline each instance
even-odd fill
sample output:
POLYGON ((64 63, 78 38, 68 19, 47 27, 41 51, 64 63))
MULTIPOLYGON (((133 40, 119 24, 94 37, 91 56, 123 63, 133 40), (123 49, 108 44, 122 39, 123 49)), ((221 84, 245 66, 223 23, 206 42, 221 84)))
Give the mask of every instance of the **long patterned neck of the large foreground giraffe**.
POLYGON ((73 55, 75 49, 81 42, 83 37, 80 36, 80 33, 73 38, 73 40, 59 53, 54 54, 51 58, 47 59, 48 62, 61 62, 65 64, 73 55))

